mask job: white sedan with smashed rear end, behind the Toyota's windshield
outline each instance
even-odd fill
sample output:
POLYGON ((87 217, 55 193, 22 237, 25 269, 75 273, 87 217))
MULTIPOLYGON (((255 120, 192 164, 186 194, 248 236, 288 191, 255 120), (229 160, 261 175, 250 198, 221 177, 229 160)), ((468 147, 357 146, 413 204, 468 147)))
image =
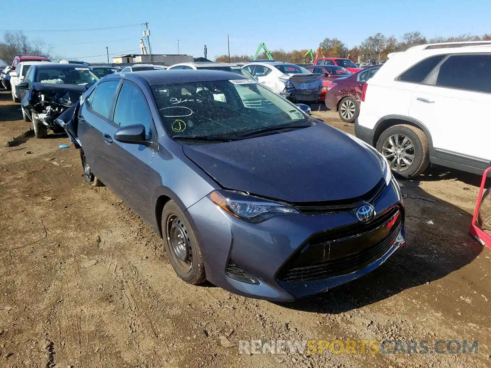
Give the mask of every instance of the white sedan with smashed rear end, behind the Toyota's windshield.
POLYGON ((322 88, 320 74, 312 74, 301 66, 280 61, 251 62, 243 68, 259 83, 284 98, 300 101, 319 101, 322 88))

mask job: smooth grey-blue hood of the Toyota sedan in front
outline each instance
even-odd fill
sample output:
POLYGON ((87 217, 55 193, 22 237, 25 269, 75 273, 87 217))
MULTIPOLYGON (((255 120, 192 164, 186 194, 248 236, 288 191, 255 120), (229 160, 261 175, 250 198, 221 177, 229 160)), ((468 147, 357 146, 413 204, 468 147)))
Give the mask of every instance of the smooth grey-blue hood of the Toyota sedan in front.
POLYGON ((382 178, 372 151, 321 123, 232 142, 185 144, 183 150, 222 187, 286 202, 355 198, 382 178))

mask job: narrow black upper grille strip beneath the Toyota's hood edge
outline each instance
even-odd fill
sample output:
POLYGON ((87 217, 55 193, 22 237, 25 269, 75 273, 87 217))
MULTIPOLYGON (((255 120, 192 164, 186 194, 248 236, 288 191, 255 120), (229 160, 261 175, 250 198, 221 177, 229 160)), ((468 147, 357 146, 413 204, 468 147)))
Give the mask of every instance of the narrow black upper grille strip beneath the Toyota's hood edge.
POLYGON ((295 202, 290 205, 305 214, 322 214, 353 210, 366 203, 373 203, 386 187, 385 179, 382 178, 367 193, 356 198, 341 199, 337 201, 295 202))

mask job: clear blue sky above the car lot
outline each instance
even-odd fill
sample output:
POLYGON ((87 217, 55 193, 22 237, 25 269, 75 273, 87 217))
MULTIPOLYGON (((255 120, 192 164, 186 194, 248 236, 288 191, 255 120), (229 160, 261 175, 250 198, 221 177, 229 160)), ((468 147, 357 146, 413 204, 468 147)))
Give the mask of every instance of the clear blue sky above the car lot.
MULTIPOLYGON (((208 57, 227 53, 255 53, 260 42, 270 50, 316 49, 324 38, 337 37, 348 47, 377 32, 401 37, 418 30, 426 37, 462 33, 491 33, 490 0, 24 0, 22 17, 3 9, 0 29, 81 29, 149 23, 154 53, 208 57), (12 16, 7 16, 10 14, 12 16), (21 22, 22 20, 22 22, 21 22)), ((12 12, 16 11, 12 3, 12 12)), ((17 9, 19 10, 19 9, 17 9)), ((54 46, 53 54, 88 62, 136 50, 143 26, 70 32, 25 32, 54 46), (83 58, 82 58, 83 57, 83 58)), ((0 31, 1 32, 1 31, 0 31)))

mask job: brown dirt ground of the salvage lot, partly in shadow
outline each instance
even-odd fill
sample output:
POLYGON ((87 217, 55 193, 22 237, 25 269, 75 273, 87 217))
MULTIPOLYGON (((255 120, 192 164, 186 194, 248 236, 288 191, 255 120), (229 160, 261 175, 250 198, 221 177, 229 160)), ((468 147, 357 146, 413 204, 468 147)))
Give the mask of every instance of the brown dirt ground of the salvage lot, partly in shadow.
POLYGON ((407 247, 355 282, 275 304, 182 282, 150 227, 85 184, 79 152, 58 148, 66 136, 5 147, 30 127, 19 119, 0 93, 0 367, 491 366, 491 251, 468 234, 478 176, 432 168, 400 181, 407 247), (248 355, 225 335, 478 340, 479 353, 248 355))

